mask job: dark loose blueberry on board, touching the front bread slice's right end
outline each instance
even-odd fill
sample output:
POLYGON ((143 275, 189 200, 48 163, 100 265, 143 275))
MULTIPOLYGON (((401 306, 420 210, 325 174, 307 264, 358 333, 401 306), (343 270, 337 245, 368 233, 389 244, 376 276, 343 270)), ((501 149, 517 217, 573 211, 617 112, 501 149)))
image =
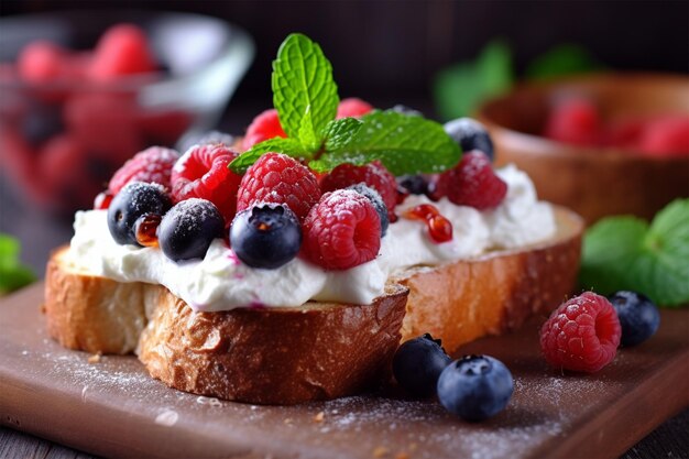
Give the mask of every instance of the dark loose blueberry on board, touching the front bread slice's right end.
POLYGON ((412 395, 428 397, 436 393, 438 376, 451 359, 429 334, 400 346, 392 362, 395 380, 412 395))

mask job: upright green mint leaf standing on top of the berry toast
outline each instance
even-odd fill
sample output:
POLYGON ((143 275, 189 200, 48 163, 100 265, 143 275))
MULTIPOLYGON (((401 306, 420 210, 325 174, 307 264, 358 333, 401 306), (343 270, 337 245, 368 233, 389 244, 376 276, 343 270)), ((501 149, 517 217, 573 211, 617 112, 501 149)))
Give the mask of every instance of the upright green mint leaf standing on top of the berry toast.
POLYGON ((306 35, 288 35, 273 61, 272 87, 273 105, 287 135, 309 147, 319 143, 315 139, 321 139, 340 100, 332 66, 320 46, 306 35))

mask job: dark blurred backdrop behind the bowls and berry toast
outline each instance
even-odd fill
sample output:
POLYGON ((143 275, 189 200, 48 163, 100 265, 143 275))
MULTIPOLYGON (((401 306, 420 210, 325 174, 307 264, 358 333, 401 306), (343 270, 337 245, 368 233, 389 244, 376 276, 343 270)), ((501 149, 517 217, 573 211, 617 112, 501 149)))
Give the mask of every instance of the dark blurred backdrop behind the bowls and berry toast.
MULTIPOLYGON (((403 103, 440 120, 450 113, 434 102, 438 75, 477 59, 489 43, 507 50, 508 83, 562 44, 583 50, 584 64, 597 68, 689 73, 689 2, 683 0, 0 2, 3 19, 81 9, 103 15, 112 9, 193 12, 247 31, 255 43, 254 61, 215 122, 230 133, 241 133, 255 114, 272 106, 271 61, 283 39, 295 31, 322 46, 341 97, 361 97, 382 108, 403 103)), ((86 28, 89 21, 84 18, 74 26, 86 28)), ((0 28, 0 47, 9 41, 0 28)), ((508 84, 497 86, 504 90, 508 84)), ((0 232, 19 238, 22 259, 41 275, 48 250, 68 241, 72 216, 30 204, 2 167, 0 232)))

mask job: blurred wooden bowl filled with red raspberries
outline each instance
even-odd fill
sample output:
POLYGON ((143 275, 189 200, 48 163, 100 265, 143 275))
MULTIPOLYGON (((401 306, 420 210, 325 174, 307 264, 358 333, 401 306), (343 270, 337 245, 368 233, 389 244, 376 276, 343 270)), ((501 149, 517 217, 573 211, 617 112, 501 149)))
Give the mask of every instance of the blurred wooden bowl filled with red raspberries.
POLYGON ((589 225, 652 218, 689 196, 689 79, 597 74, 525 84, 486 102, 496 163, 515 163, 538 195, 589 225))

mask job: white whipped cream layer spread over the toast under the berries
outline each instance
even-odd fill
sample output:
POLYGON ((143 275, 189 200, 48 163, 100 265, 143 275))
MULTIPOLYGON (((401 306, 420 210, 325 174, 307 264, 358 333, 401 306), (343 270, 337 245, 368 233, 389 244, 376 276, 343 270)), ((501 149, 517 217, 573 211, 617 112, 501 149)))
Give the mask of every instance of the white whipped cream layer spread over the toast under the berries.
POLYGON ((496 173, 507 184, 507 196, 495 209, 481 212, 425 196, 409 196, 397 206, 402 215, 419 204, 433 204, 451 221, 451 241, 434 243, 422 221, 400 218, 382 239, 378 258, 347 271, 325 271, 299 258, 276 270, 249 267, 221 239, 210 244, 204 260, 175 263, 160 249, 114 242, 106 210, 76 214, 69 258, 75 270, 92 275, 162 284, 195 310, 295 307, 309 299, 370 304, 397 271, 514 249, 555 233, 553 209, 537 200, 529 177, 513 165, 496 173))

